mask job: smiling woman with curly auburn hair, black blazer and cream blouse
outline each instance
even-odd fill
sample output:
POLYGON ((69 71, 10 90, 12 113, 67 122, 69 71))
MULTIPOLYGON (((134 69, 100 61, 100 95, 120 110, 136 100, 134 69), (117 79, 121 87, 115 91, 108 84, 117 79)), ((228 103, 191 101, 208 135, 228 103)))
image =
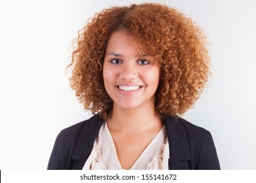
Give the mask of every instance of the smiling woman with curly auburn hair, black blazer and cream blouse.
POLYGON ((60 132, 48 169, 220 169, 209 131, 179 117, 209 76, 205 37, 184 14, 155 3, 102 10, 69 66, 95 116, 60 132))

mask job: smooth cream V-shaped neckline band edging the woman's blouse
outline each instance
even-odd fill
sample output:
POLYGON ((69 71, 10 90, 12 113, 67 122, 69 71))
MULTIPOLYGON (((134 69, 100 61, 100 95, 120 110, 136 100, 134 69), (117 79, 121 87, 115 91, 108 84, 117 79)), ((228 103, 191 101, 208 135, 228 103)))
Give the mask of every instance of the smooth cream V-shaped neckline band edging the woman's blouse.
MULTIPOLYGON (((110 133, 110 130, 108 129, 108 124, 105 122, 104 125, 105 125, 104 128, 105 128, 106 134, 107 134, 108 139, 110 141, 110 146, 111 146, 111 149, 112 149, 112 153, 114 154, 114 159, 116 161, 116 164, 119 167, 119 169, 123 169, 123 167, 121 167, 121 163, 118 159, 117 152, 116 152, 116 146, 115 146, 114 140, 112 138, 112 135, 110 133)), ((160 129, 160 131, 156 134, 154 139, 152 139, 152 141, 148 144, 148 146, 146 146, 146 148, 143 150, 142 154, 140 154, 139 158, 136 159, 135 163, 133 163, 133 165, 131 166, 131 168, 129 170, 133 170, 140 163, 141 159, 144 158, 144 156, 148 152, 148 150, 150 150, 150 148, 154 145, 154 142, 156 142, 158 140, 158 137, 160 137, 160 135, 164 132, 164 129, 165 129, 165 126, 163 126, 160 129)))

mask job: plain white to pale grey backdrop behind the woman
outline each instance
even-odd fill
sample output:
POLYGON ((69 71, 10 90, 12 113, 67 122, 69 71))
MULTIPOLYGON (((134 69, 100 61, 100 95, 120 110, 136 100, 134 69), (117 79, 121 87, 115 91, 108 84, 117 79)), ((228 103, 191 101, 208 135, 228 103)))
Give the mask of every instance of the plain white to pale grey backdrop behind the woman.
POLYGON ((0 1, 0 169, 46 169, 61 129, 90 117, 69 87, 72 40, 95 12, 157 2, 211 41, 212 78, 184 116, 211 131, 222 169, 256 169, 256 5, 241 1, 0 1))

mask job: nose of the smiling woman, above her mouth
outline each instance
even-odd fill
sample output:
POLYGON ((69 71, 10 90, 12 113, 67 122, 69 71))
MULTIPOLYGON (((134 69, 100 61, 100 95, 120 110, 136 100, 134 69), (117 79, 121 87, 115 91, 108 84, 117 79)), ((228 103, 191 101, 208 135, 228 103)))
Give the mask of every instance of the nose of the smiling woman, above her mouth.
POLYGON ((138 72, 136 65, 133 63, 127 63, 123 65, 123 68, 121 69, 119 76, 122 80, 133 80, 137 78, 138 72))

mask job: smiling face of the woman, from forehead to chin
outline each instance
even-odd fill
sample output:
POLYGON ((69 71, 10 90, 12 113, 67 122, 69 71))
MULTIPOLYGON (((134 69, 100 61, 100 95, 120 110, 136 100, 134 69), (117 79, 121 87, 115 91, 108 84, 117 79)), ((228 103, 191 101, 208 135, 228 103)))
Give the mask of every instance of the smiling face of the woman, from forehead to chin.
POLYGON ((133 36, 114 32, 106 48, 103 65, 106 92, 114 107, 125 109, 154 105, 160 67, 148 53, 141 53, 133 36))

